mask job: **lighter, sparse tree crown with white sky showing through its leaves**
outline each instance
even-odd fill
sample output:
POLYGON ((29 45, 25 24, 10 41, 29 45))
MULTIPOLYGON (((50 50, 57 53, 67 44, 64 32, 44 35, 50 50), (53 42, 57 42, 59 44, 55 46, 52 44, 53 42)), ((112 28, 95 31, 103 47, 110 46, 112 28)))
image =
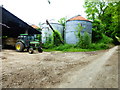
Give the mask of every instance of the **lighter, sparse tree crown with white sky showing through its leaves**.
POLYGON ((90 20, 94 20, 95 18, 101 18, 102 14, 104 14, 105 9, 107 8, 107 2, 85 2, 84 8, 86 9, 87 17, 90 20))

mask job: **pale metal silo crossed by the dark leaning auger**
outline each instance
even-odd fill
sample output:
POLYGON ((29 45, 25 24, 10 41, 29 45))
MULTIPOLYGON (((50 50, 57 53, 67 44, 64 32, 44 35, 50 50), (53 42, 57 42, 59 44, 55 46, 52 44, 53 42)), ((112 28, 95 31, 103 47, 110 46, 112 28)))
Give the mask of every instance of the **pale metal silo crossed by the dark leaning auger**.
MULTIPOLYGON (((50 25, 53 27, 54 30, 58 30, 61 35, 63 36, 63 26, 61 24, 58 23, 50 23, 50 25)), ((49 27, 49 25, 47 25, 46 23, 44 23, 42 25, 42 43, 45 43, 47 41, 47 39, 52 35, 52 30, 49 27)))

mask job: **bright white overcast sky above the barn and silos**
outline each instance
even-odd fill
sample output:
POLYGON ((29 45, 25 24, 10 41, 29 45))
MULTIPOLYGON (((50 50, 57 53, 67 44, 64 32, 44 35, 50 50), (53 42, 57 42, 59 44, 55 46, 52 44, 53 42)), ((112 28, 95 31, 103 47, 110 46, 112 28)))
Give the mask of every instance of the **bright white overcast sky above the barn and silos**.
POLYGON ((84 13, 84 0, 0 0, 3 5, 11 13, 31 24, 38 25, 39 22, 45 22, 46 19, 55 19, 56 21, 62 17, 73 17, 84 13))

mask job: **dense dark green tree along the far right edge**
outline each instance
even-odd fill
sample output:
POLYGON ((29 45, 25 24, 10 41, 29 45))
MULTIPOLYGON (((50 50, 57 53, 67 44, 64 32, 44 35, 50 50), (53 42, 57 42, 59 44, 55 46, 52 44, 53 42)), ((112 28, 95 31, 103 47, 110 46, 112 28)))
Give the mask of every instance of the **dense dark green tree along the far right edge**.
POLYGON ((120 2, 108 3, 108 7, 105 13, 102 15, 102 23, 105 25, 105 35, 114 39, 114 43, 118 44, 119 40, 116 38, 120 37, 119 30, 119 17, 120 17, 120 2))

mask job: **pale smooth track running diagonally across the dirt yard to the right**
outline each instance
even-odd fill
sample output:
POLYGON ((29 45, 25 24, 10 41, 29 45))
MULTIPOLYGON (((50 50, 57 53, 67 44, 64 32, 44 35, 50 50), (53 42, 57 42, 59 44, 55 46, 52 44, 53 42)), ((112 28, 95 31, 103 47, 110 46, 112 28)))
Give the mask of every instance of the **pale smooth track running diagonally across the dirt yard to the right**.
MULTIPOLYGON (((61 84, 57 87, 59 87, 59 88, 61 88, 61 87, 66 87, 66 88, 68 88, 68 87, 69 88, 94 88, 94 87, 96 87, 96 88, 99 88, 99 87, 101 87, 101 88, 111 88, 111 87, 118 88, 118 82, 117 82, 118 73, 116 73, 117 74, 115 77, 116 82, 114 82, 115 83, 114 86, 110 86, 110 84, 109 84, 109 83, 113 83, 113 81, 106 83, 106 86, 100 86, 100 85, 95 86, 94 85, 97 82, 97 80, 95 80, 96 76, 98 76, 98 74, 99 74, 99 72, 101 72, 101 70, 102 71, 104 70, 103 69, 104 64, 113 56, 113 54, 116 52, 117 49, 118 49, 118 47, 116 46, 116 47, 110 49, 108 52, 105 52, 102 56, 98 56, 98 58, 94 58, 95 60, 91 64, 87 65, 83 69, 80 69, 80 70, 74 72, 74 74, 72 74, 71 77, 69 77, 68 83, 65 82, 64 84, 61 84), (93 84, 93 82, 94 82, 94 84, 93 84)), ((117 60, 117 58, 115 58, 115 60, 117 60)), ((118 66, 116 66, 116 67, 118 67, 118 66)), ((116 68, 115 71, 118 71, 118 68, 116 68)), ((102 72, 102 74, 104 74, 104 73, 105 72, 102 72)), ((111 77, 109 74, 106 74, 106 76, 107 75, 108 75, 108 77, 111 77)), ((99 77, 99 79, 100 78, 101 77, 99 77)), ((102 84, 104 84, 104 82, 102 82, 102 84)))

